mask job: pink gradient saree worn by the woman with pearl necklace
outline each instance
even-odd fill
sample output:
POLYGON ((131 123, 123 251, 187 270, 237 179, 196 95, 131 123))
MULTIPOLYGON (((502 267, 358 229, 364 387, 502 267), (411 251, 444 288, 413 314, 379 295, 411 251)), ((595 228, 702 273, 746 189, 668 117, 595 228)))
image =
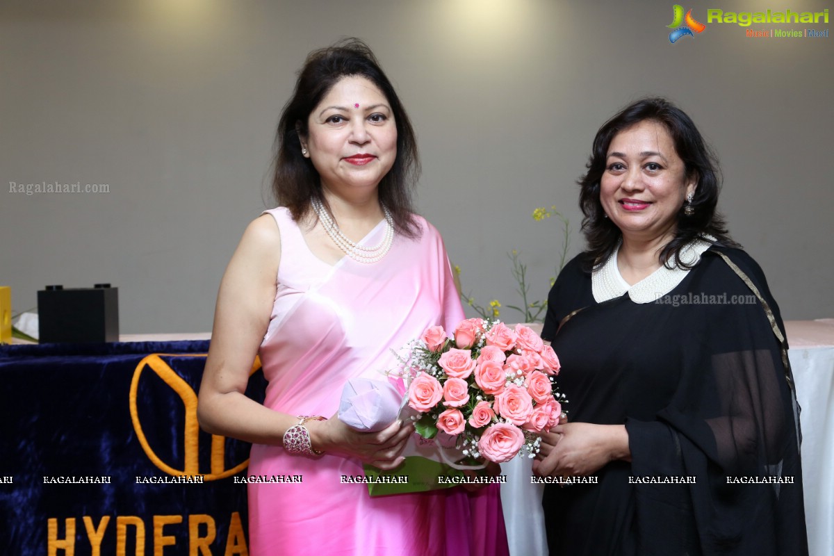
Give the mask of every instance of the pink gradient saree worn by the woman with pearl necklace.
MULTIPOLYGON (((269 380, 264 404, 294 415, 333 417, 344 383, 396 368, 399 350, 433 325, 464 318, 440 234, 418 218, 422 236, 395 236, 378 263, 344 257, 330 266, 309 251, 285 208, 272 318, 260 348, 269 380)), ((384 223, 363 243, 375 245, 384 223)), ((401 388, 401 385, 400 385, 401 388)), ((249 483, 253 556, 362 554, 442 556, 508 553, 498 485, 478 493, 449 488, 371 498, 359 460, 289 455, 255 444, 249 475, 301 475, 301 483, 249 483)))

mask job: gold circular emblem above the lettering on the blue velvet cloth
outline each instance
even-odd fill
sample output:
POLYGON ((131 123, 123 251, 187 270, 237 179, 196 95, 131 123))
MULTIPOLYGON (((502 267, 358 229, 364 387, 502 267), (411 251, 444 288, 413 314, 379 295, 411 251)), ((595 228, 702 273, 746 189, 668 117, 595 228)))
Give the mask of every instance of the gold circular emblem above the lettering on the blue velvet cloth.
MULTIPOLYGON (((243 462, 238 463, 233 468, 225 468, 226 455, 226 437, 212 434, 211 437, 211 459, 209 462, 209 473, 200 473, 199 465, 199 432, 200 426, 197 422, 197 393, 193 388, 179 376, 168 363, 165 363, 163 357, 201 357, 205 358, 206 353, 151 353, 142 359, 133 371, 133 379, 130 382, 130 420, 133 421, 133 430, 136 431, 136 437, 142 445, 142 449, 154 465, 162 469, 169 475, 203 475, 204 481, 214 481, 219 478, 230 477, 249 465, 249 458, 243 462), (142 430, 142 423, 139 420, 137 394, 139 389, 139 379, 143 371, 149 368, 156 373, 163 382, 168 384, 174 393, 183 401, 185 408, 185 427, 183 438, 183 468, 173 468, 168 463, 163 462, 162 458, 153 452, 153 448, 148 443, 148 438, 142 430)), ((252 364, 252 370, 249 376, 255 373, 260 368, 260 358, 256 357, 252 364)))

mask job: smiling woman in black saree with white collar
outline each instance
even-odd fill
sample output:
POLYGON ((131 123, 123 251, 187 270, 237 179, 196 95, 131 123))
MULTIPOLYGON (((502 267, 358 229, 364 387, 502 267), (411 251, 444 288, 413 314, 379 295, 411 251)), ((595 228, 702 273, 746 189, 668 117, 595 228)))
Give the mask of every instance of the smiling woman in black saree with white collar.
POLYGON ((807 554, 785 329, 716 214, 701 134, 665 99, 633 103, 596 134, 580 188, 588 248, 542 333, 570 400, 534 463, 561 482, 543 500, 550 553, 807 554))

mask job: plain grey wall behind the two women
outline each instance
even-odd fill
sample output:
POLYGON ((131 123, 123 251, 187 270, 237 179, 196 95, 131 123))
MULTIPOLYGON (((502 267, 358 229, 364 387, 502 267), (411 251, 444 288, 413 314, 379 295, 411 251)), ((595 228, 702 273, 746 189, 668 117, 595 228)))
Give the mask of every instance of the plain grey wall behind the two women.
MULTIPOLYGON (((123 333, 209 330, 225 264, 269 204, 274 127, 295 72, 310 50, 357 36, 418 132, 420 212, 481 303, 515 303, 513 248, 532 297, 545 297, 561 239, 533 209, 565 213, 578 253, 575 180, 596 129, 660 94, 719 154, 731 233, 784 316, 834 317, 834 38, 746 38, 712 23, 671 44, 672 3, 4 0, 0 283, 20 311, 48 283, 109 282, 123 333), (109 193, 28 196, 10 182, 109 193)), ((716 0, 694 6, 701 23, 707 8, 829 5, 716 0)), ((750 28, 806 27, 830 26, 750 28)))

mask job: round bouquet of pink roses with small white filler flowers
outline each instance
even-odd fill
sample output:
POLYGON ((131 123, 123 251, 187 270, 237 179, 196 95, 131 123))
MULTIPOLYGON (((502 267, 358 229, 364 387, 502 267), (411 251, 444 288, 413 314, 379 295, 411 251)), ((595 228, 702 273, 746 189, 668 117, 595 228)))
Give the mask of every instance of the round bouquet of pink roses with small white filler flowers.
POLYGON ((448 338, 430 327, 400 358, 408 404, 420 412, 417 433, 458 438, 466 458, 503 463, 539 451, 537 433, 559 423, 564 395, 555 393, 559 358, 523 324, 468 318, 448 338))

